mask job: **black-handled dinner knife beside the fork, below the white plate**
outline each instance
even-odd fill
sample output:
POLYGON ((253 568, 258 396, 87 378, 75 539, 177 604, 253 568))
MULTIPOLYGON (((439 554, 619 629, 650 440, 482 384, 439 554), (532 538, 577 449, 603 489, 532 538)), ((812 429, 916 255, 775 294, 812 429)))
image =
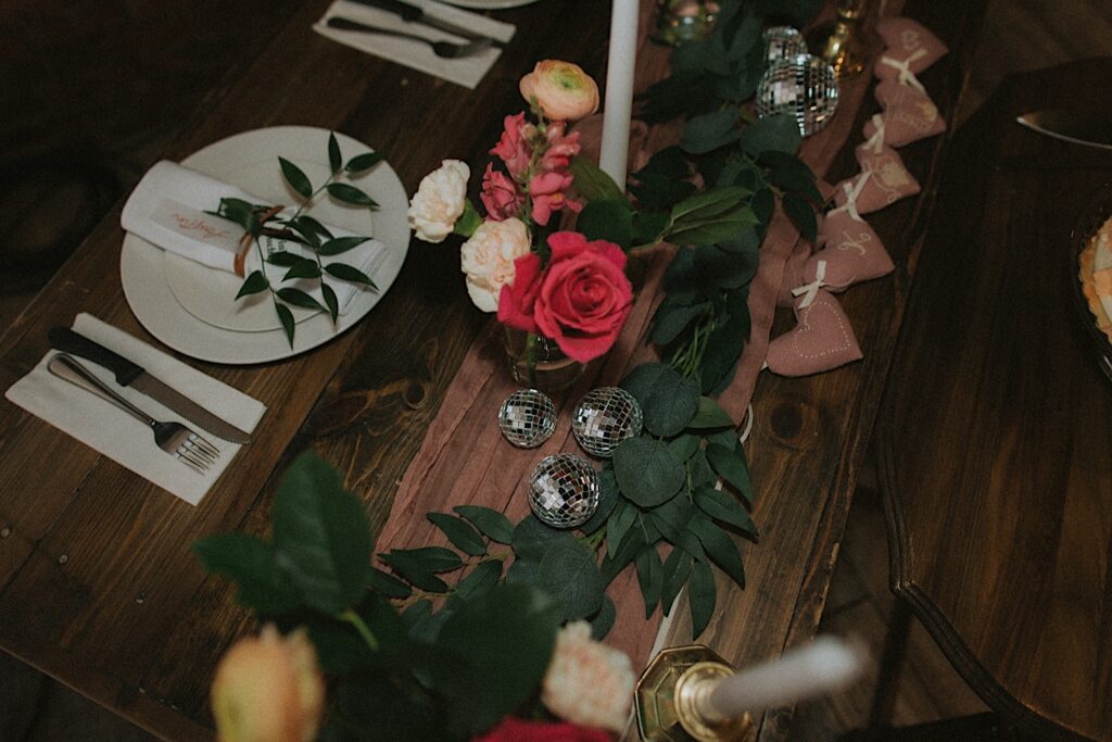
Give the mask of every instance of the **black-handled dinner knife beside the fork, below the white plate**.
POLYGON ((115 350, 109 350, 96 340, 90 340, 69 327, 51 328, 47 333, 47 339, 50 342, 50 346, 58 350, 80 356, 98 366, 103 366, 116 375, 116 382, 120 386, 128 386, 146 394, 208 433, 231 443, 246 444, 251 442, 250 433, 214 415, 158 377, 149 374, 138 364, 128 360, 115 350))

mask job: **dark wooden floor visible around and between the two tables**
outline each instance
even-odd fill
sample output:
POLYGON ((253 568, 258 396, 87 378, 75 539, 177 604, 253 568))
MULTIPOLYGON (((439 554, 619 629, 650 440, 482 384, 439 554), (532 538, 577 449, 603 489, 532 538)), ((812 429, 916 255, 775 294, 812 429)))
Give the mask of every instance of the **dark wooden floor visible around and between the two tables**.
MULTIPOLYGON (((115 10, 106 12, 121 12, 118 3, 107 4, 115 10)), ((0 30, 0 41, 7 34, 17 33, 21 22, 23 26, 29 24, 27 18, 20 17, 21 9, 24 13, 36 13, 41 18, 50 16, 44 8, 56 8, 56 14, 64 20, 75 12, 63 10, 64 7, 66 3, 57 0, 33 4, 13 0, 0 11, 0 19, 6 21, 2 23, 6 28, 0 30), (14 22, 8 22, 12 20, 14 22)), ((62 28, 64 30, 64 23, 62 28)), ((87 33, 70 30, 72 49, 82 43, 87 33)), ((88 32, 91 33, 92 30, 88 32)), ((86 179, 72 186, 73 190, 69 192, 73 208, 66 210, 66 214, 72 224, 61 225, 58 219, 42 219, 41 215, 36 221, 36 210, 29 205, 49 202, 51 196, 66 197, 64 192, 50 184, 36 185, 32 181, 21 190, 12 188, 9 181, 0 190, 0 234, 7 237, 4 246, 0 248, 0 270, 3 271, 3 280, 0 280, 0 327, 7 327, 12 321, 49 275, 49 271, 42 274, 41 269, 13 270, 12 266, 18 268, 27 264, 20 263, 18 255, 16 259, 12 258, 12 246, 14 245, 14 249, 33 251, 38 246, 57 243, 59 237, 73 243, 67 229, 80 233, 82 225, 95 224, 98 208, 101 214, 107 209, 105 199, 110 204, 133 184, 139 174, 137 162, 149 159, 145 150, 145 142, 148 140, 142 132, 149 131, 152 125, 141 115, 132 113, 137 118, 129 120, 128 115, 119 112, 126 109, 111 105, 92 106, 83 117, 43 112, 48 108, 54 110, 50 105, 63 93, 78 97, 90 93, 72 82, 69 83, 72 90, 54 91, 58 95, 27 83, 26 76, 30 73, 33 77, 37 70, 44 70, 43 75, 57 77, 59 68, 66 66, 66 59, 54 53, 54 46, 36 47, 20 43, 18 38, 7 41, 11 42, 6 43, 9 50, 19 50, 24 56, 0 57, 0 77, 6 80, 21 79, 27 85, 27 90, 36 92, 29 99, 20 99, 16 93, 12 93, 12 99, 8 99, 8 96, 0 92, 0 102, 4 103, 6 110, 30 109, 33 113, 23 121, 18 116, 0 120, 0 142, 3 145, 0 147, 0 170, 6 167, 18 168, 20 162, 32 161, 34 158, 42 161, 43 152, 81 145, 88 147, 90 142, 95 157, 83 170, 86 179), (40 57, 33 58, 34 53, 40 57), (48 60, 50 56, 53 58, 48 60), (38 109, 34 108, 36 98, 40 103, 38 109), (20 239, 13 240, 13 235, 20 239)), ((26 39, 22 41, 26 42, 26 39)), ((62 43, 60 48, 64 50, 67 47, 62 43)), ((979 47, 972 89, 960 109, 961 119, 965 120, 1007 72, 1106 55, 1112 55, 1112 3, 1108 0, 993 0, 979 47)), ((112 61, 107 63, 111 65, 112 61)), ((201 71, 218 75, 212 65, 201 71)), ((111 79, 111 70, 101 77, 111 79)), ((10 90, 16 90, 16 87, 10 90)), ((166 121, 180 120, 183 111, 175 106, 180 108, 185 103, 171 101, 167 96, 163 98, 166 100, 161 101, 161 108, 156 108, 155 113, 148 111, 146 116, 155 117, 157 126, 165 128, 172 126, 166 121)), ((51 211, 58 212, 58 209, 51 211)), ((864 729, 871 722, 905 726, 985 710, 914 620, 911 620, 905 644, 896 647, 902 650, 903 662, 897 664, 891 661, 892 653, 886 654, 885 650, 893 647, 886 647, 885 640, 890 636, 890 627, 894 623, 898 624, 905 613, 900 610, 888 591, 887 580, 887 544, 880 497, 875 487, 865 482, 855 495, 850 514, 847 534, 834 572, 823 620, 823 631, 864 637, 880 661, 866 681, 853 690, 821 702, 802 704, 793 726, 794 739, 834 740, 853 730, 864 729), (877 699, 881 700, 878 704, 877 699)), ((146 739, 150 738, 135 726, 0 653, 0 742, 128 742, 146 739)))

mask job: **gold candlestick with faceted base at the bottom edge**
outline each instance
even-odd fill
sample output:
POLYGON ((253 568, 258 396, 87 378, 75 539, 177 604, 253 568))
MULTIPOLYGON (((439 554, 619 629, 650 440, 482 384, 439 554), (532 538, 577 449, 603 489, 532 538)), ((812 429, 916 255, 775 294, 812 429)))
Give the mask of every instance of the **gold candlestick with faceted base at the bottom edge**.
POLYGON ((663 650, 637 681, 637 728, 649 742, 753 742, 756 728, 745 714, 723 719, 711 706, 714 687, 734 669, 705 646, 663 650))

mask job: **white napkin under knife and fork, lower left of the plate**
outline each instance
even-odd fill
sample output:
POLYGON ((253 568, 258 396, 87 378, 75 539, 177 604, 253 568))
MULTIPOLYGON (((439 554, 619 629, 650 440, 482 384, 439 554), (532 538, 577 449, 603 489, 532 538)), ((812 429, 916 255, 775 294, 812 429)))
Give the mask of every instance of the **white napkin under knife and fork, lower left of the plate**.
MULTIPOLYGON (((258 399, 187 366, 92 315, 78 315, 73 321, 73 329, 139 364, 151 375, 248 433, 255 429, 262 413, 266 412, 266 405, 258 399)), ((201 474, 156 446, 153 432, 138 419, 91 392, 60 379, 47 370, 47 363, 54 355, 57 354, 53 350, 48 353, 31 373, 16 382, 4 396, 32 415, 44 419, 190 505, 201 501, 241 448, 205 433, 147 395, 129 387, 118 386, 111 373, 97 364, 78 359, 81 365, 155 419, 185 423, 216 445, 220 449, 220 456, 208 472, 201 474)))

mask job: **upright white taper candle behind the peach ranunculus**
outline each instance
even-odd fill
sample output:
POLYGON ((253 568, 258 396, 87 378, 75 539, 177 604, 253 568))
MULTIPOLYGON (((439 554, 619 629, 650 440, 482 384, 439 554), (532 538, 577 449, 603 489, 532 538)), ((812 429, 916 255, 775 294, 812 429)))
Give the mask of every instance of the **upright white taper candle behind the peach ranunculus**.
POLYGON ((638 0, 614 0, 610 10, 610 51, 606 66, 606 100, 598 166, 625 190, 633 115, 633 75, 637 62, 638 0))

